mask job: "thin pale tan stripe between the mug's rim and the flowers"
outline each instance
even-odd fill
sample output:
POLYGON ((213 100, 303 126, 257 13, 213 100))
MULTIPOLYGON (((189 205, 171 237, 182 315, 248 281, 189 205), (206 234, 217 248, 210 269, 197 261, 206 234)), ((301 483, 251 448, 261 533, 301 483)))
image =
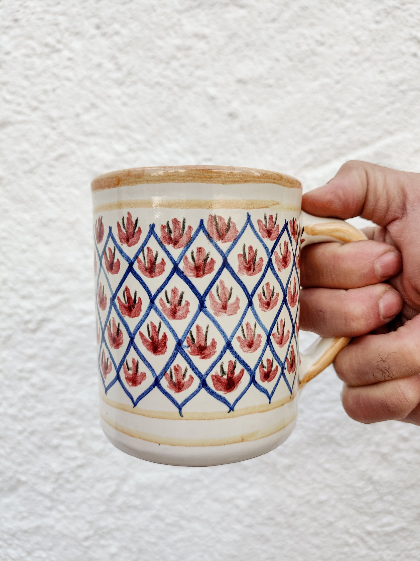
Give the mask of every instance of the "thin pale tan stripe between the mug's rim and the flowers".
POLYGON ((290 210, 300 212, 300 206, 283 205, 279 201, 260 200, 260 199, 162 199, 153 197, 152 199, 128 199, 125 201, 114 201, 113 203, 102 203, 96 205, 94 213, 106 212, 107 210, 118 209, 272 209, 290 210))

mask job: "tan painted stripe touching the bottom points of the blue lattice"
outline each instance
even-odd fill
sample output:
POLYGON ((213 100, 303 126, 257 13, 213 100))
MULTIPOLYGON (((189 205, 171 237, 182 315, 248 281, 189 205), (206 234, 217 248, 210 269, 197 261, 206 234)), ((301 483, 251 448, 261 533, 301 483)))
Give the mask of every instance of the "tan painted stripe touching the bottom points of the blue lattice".
POLYGON ((142 417, 151 417, 152 419, 172 419, 176 421, 211 421, 216 419, 232 419, 233 417, 242 417, 243 415, 253 415, 253 413, 265 413, 265 411, 272 411, 278 407, 286 405, 295 399, 296 393, 293 393, 290 397, 284 397, 278 401, 273 401, 272 403, 261 403, 259 405, 253 405, 250 407, 242 407, 241 409, 235 409, 230 413, 226 411, 185 411, 183 412, 183 417, 180 416, 178 411, 152 411, 150 409, 141 409, 140 407, 133 407, 131 405, 126 405, 125 403, 118 403, 109 399, 105 394, 100 394, 102 401, 104 401, 110 407, 114 409, 119 409, 121 411, 127 411, 128 413, 134 413, 135 415, 141 415, 142 417))

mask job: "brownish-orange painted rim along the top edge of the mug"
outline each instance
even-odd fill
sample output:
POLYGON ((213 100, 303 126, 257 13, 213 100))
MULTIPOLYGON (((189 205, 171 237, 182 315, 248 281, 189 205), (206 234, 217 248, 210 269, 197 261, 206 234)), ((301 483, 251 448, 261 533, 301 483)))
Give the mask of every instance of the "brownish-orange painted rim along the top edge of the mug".
POLYGON ((267 169, 230 165, 160 165, 103 173, 92 180, 91 191, 146 183, 216 183, 219 185, 273 183, 302 190, 301 182, 295 177, 267 169))

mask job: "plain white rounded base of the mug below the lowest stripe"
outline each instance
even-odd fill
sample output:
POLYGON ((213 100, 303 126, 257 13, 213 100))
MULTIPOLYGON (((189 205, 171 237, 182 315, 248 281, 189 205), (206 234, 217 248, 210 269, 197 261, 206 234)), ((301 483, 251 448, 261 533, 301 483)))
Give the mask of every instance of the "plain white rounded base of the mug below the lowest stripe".
POLYGON ((203 447, 170 446, 139 440, 115 430, 103 419, 101 426, 109 442, 130 456, 170 466, 206 467, 242 462, 270 452, 291 435, 296 419, 297 417, 276 433, 259 440, 203 447))

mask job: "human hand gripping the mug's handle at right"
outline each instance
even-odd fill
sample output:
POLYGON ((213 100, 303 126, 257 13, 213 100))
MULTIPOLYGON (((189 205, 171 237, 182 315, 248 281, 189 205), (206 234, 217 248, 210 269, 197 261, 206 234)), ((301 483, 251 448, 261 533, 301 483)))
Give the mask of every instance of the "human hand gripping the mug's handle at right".
POLYGON ((302 209, 377 224, 369 240, 302 250, 300 327, 354 337, 334 361, 344 409, 420 425, 420 174, 347 162, 302 209))

